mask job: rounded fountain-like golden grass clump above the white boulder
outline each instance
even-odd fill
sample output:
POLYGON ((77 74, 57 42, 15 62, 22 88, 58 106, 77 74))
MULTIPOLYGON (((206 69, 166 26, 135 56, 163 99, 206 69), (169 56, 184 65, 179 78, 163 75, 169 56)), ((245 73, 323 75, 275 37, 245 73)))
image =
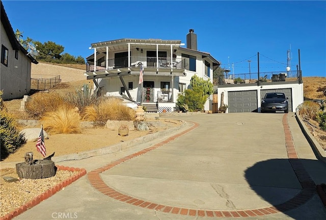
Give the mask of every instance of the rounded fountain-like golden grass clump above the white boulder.
POLYGON ((50 134, 80 133, 79 114, 75 109, 62 105, 53 112, 47 112, 41 118, 44 130, 50 134))

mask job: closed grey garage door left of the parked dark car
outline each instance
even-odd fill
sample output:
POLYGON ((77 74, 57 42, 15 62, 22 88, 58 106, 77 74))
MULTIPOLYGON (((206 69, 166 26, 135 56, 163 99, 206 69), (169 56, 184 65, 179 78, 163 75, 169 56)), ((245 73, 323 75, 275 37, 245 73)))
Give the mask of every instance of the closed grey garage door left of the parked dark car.
POLYGON ((228 92, 229 113, 257 111, 257 90, 228 92))

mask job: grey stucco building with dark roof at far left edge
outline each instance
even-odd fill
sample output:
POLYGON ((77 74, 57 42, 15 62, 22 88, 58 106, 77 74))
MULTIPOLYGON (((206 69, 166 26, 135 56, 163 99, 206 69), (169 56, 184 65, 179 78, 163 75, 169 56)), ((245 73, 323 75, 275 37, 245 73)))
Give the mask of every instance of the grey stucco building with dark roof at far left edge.
POLYGON ((2 2, 0 34, 0 90, 4 92, 2 98, 4 100, 20 98, 30 93, 31 64, 37 64, 38 62, 16 39, 2 2))

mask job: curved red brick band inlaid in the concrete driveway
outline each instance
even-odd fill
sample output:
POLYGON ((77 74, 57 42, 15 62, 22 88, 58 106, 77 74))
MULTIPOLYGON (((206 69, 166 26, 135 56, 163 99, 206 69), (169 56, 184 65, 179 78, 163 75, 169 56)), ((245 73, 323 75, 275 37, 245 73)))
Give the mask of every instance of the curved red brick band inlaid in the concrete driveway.
POLYGON ((124 195, 124 194, 120 193, 119 191, 106 185, 106 183, 101 179, 100 173, 110 170, 111 168, 118 166, 119 164, 123 163, 126 160, 132 159, 134 157, 145 154, 151 150, 154 150, 158 147, 161 147, 171 141, 174 141, 179 136, 181 136, 189 131, 192 131, 193 129, 195 129, 199 126, 199 124, 196 122, 193 122, 194 126, 192 126, 191 128, 188 128, 187 130, 185 130, 183 132, 180 132, 172 137, 169 137, 165 141, 162 141, 156 145, 153 145, 152 147, 145 148, 139 152, 125 156, 121 159, 118 159, 116 161, 108 163, 101 168, 98 168, 96 170, 89 172, 88 180, 93 185, 94 188, 98 189, 101 193, 103 193, 104 195, 107 195, 111 198, 114 198, 121 202, 129 203, 129 204, 132 204, 135 206, 148 208, 148 209, 154 209, 157 211, 162 211, 162 212, 167 212, 167 213, 190 215, 190 216, 203 216, 203 217, 204 216, 208 216, 208 217, 247 217, 247 216, 260 216, 260 215, 274 214, 277 212, 289 211, 291 209, 297 208, 297 207, 305 204, 308 200, 310 200, 312 198, 312 196, 315 194, 316 186, 315 186, 314 181, 311 179, 310 175, 308 174, 308 172, 305 170, 303 164, 298 159, 296 150, 294 148, 294 143, 292 140, 292 134, 291 134, 290 128, 288 126, 287 115, 288 114, 284 114, 283 119, 282 119, 283 128, 284 128, 284 136, 285 136, 285 147, 287 150, 288 158, 291 163, 292 169, 295 172, 295 175, 297 176, 298 181, 300 181, 303 189, 300 191, 300 193, 298 193, 292 199, 290 199, 282 204, 276 205, 276 206, 270 206, 270 207, 260 208, 260 209, 232 210, 232 211, 202 210, 202 209, 188 209, 188 208, 184 208, 184 207, 172 207, 172 206, 167 206, 164 204, 156 204, 156 203, 151 203, 149 201, 143 201, 143 200, 133 198, 128 195, 124 195))

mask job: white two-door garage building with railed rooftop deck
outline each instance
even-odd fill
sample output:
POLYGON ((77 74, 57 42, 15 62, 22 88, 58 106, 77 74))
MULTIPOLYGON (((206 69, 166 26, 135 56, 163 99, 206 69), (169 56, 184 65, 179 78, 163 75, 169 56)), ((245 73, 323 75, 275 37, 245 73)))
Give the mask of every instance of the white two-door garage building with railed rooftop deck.
POLYGON ((304 101, 300 65, 296 70, 287 67, 280 72, 230 74, 229 70, 225 70, 217 85, 214 85, 214 90, 218 94, 219 106, 228 105, 227 113, 260 112, 261 99, 270 92, 285 94, 289 112, 295 112, 304 101))

